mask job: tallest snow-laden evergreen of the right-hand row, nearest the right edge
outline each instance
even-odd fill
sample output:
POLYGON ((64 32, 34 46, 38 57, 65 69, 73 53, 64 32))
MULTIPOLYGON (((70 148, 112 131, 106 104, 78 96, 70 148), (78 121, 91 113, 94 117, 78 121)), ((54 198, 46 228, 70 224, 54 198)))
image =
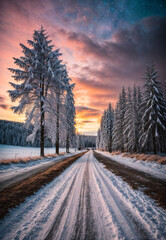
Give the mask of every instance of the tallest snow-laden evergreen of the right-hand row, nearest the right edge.
POLYGON ((162 131, 165 131, 166 104, 163 98, 161 82, 157 80, 158 71, 155 70, 154 64, 147 67, 145 72, 144 96, 141 104, 142 116, 142 134, 140 142, 145 147, 149 141, 153 141, 153 152, 159 150, 159 140, 162 131))

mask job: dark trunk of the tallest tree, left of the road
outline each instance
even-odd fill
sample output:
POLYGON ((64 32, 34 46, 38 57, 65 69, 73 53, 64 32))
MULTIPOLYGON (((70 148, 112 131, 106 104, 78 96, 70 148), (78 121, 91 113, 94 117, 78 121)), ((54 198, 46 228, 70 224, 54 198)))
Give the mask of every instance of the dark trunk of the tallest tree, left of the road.
POLYGON ((44 97, 44 80, 40 84, 41 88, 41 93, 40 93, 40 156, 44 157, 44 102, 43 102, 43 97, 44 97))

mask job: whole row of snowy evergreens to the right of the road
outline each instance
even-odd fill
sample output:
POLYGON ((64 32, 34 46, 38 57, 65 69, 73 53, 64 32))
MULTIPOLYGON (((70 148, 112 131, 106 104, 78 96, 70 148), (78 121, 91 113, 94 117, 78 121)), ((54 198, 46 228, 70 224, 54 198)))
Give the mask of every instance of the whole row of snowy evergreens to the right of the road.
POLYGON ((123 87, 115 110, 104 111, 96 146, 106 151, 166 152, 166 84, 147 66, 143 88, 123 87))

